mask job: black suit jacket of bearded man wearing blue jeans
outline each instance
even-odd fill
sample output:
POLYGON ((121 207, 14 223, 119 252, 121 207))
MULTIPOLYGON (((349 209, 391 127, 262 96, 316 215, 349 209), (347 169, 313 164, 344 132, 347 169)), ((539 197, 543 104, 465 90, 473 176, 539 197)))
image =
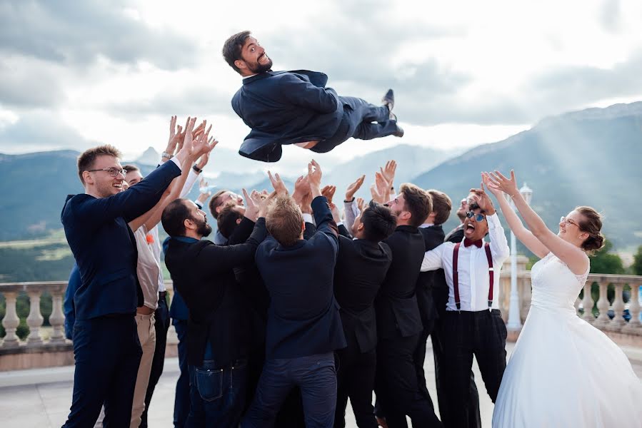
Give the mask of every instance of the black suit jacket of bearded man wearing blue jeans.
POLYGON ((169 240, 165 263, 189 309, 190 365, 202 365, 208 341, 219 367, 247 357, 251 339, 247 304, 233 269, 251 262, 265 236, 265 219, 259 218, 244 244, 220 246, 209 240, 169 240))

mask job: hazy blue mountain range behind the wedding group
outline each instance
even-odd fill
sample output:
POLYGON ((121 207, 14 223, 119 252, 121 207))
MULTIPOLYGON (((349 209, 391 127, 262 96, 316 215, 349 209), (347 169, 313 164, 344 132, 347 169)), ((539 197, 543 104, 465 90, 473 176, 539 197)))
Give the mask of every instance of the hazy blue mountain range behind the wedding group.
MULTIPOLYGON (((256 165, 230 149, 215 149, 204 175, 218 188, 240 191, 269 188, 256 165), (228 153, 229 152, 229 153, 228 153), (222 172, 221 172, 222 171, 222 172)), ((74 151, 24 155, 0 154, 0 240, 33 238, 56 230, 69 193, 82 191, 74 151)), ((159 158, 148 149, 136 161, 144 173, 159 158)), ((554 227, 576 205, 592 205, 605 216, 604 232, 616 248, 642 243, 639 183, 642 183, 642 102, 589 108, 545 118, 528 131, 496 143, 476 146, 455 156, 420 146, 400 145, 368 153, 346 163, 322 165, 324 183, 337 185, 336 200, 362 173, 366 183, 358 193, 369 198, 373 173, 389 159, 398 163, 396 185, 412 181, 423 188, 448 193, 456 203, 478 187, 482 170, 516 170, 519 185, 533 189, 533 208, 554 227)), ((299 169, 297 169, 299 170, 299 169)), ((292 176, 284 177, 287 183, 292 176)), ((196 197, 198 185, 191 196, 196 197)), ((456 218, 446 227, 456 224, 456 218)))

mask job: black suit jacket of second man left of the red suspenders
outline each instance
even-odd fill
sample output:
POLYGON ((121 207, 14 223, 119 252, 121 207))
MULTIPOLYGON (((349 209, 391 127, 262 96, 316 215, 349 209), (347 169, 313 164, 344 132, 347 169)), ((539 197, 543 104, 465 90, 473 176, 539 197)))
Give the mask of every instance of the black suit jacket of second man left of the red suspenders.
POLYGON ((384 242, 392 250, 392 263, 375 302, 378 335, 381 339, 415 335, 423 329, 416 286, 426 245, 412 226, 397 226, 384 242))

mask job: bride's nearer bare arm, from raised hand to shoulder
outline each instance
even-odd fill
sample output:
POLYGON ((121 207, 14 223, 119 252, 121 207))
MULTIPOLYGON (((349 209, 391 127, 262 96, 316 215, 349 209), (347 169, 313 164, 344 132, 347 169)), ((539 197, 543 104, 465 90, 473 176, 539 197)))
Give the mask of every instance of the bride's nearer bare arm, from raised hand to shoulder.
POLYGON ((491 179, 489 185, 502 190, 511 195, 515 206, 519 210, 522 218, 531 230, 531 233, 546 247, 568 266, 576 275, 582 275, 588 267, 588 258, 581 248, 566 242, 558 237, 551 230, 548 230, 546 224, 533 209, 528 206, 526 200, 522 197, 517 189, 517 180, 515 173, 511 170, 511 178, 506 178, 499 171, 488 175, 491 179))

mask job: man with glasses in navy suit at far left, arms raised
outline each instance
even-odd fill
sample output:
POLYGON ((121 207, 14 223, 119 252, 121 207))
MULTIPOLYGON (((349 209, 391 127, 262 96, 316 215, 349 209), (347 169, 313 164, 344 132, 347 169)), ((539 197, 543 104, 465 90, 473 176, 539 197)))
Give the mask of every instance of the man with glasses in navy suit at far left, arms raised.
POLYGON ((193 150, 191 123, 181 151, 144 182, 122 192, 125 171, 114 146, 91 148, 78 158, 85 193, 69 195, 61 221, 78 264, 74 294, 74 394, 64 427, 92 427, 104 404, 104 423, 128 427, 141 345, 136 307, 143 294, 136 276, 137 252, 127 223, 159 201, 193 150))

